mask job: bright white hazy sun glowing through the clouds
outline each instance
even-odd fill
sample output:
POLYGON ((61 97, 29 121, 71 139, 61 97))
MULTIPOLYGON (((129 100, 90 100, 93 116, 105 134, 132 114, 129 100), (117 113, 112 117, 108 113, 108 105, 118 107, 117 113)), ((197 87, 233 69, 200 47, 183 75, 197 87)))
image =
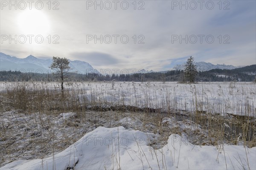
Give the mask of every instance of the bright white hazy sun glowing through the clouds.
POLYGON ((49 31, 49 20, 39 10, 24 11, 18 16, 18 25, 24 34, 46 34, 49 31))

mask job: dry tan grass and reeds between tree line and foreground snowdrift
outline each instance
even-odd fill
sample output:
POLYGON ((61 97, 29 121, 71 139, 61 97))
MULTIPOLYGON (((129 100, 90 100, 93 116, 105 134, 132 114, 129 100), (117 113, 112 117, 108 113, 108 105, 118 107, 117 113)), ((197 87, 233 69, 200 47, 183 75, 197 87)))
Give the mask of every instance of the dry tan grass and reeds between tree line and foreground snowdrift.
POLYGON ((157 149, 166 144, 173 133, 185 134, 189 142, 198 145, 221 147, 223 144, 241 143, 248 147, 256 146, 255 103, 250 102, 251 100, 243 101, 242 97, 247 95, 246 97, 256 99, 256 91, 251 91, 248 95, 248 89, 234 88, 232 84, 228 89, 219 87, 218 95, 223 98, 222 101, 227 101, 224 99, 225 93, 234 97, 226 104, 219 104, 218 99, 215 103, 209 103, 210 97, 203 96, 204 91, 209 89, 203 87, 202 91, 198 91, 196 86, 186 85, 188 93, 192 93, 194 108, 186 111, 186 99, 185 105, 177 102, 180 96, 175 88, 160 89, 152 83, 144 83, 146 90, 141 91, 144 96, 142 100, 137 97, 138 88, 142 85, 125 83, 131 86, 129 96, 122 93, 125 91, 122 83, 110 82, 109 90, 104 84, 97 84, 98 87, 96 85, 93 88, 88 82, 81 82, 79 86, 70 83, 66 84, 68 87, 62 95, 60 88, 53 83, 1 82, 0 150, 3 152, 0 163, 40 158, 59 152, 98 126, 123 125, 126 128, 158 134, 158 138, 150 144, 157 149), (114 97, 116 93, 120 96, 118 100, 114 97), (160 100, 155 100, 159 96, 160 100), (141 104, 141 101, 144 103, 141 104), (237 105, 236 112, 246 114, 227 114, 230 103, 237 105), (224 108, 223 105, 227 107, 224 108), (61 125, 56 124, 59 114, 67 112, 74 112, 76 116, 65 120, 61 125), (131 118, 132 122, 138 120, 141 125, 119 123, 125 117, 131 118), (163 122, 163 118, 174 118, 176 126, 172 127, 168 122, 163 122), (6 121, 9 123, 6 124, 6 121), (195 125, 195 129, 183 128, 184 125, 195 125), (201 125, 201 128, 197 125, 201 125))

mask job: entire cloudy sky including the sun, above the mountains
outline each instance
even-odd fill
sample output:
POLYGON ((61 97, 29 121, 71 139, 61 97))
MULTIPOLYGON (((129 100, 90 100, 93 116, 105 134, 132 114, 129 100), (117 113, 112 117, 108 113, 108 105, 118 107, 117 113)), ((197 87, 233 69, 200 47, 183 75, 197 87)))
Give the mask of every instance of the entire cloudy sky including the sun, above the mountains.
POLYGON ((66 57, 98 70, 163 71, 189 56, 251 65, 256 1, 1 0, 0 34, 5 54, 66 57))

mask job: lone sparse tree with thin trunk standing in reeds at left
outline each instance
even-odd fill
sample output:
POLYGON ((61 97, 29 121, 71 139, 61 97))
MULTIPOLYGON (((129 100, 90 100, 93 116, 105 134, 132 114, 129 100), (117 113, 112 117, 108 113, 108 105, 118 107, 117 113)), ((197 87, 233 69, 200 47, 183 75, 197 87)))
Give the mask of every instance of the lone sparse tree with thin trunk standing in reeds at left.
POLYGON ((49 66, 49 68, 54 71, 52 74, 55 74, 61 78, 61 92, 63 94, 63 82, 66 78, 66 73, 71 70, 68 59, 53 56, 52 64, 49 66))

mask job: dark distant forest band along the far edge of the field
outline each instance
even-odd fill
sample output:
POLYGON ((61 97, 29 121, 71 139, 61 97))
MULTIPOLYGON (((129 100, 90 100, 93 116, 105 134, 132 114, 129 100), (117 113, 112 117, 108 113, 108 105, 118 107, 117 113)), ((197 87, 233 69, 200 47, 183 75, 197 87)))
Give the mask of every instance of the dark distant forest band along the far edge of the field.
MULTIPOLYGON (((125 82, 183 82, 185 74, 183 70, 172 70, 164 73, 137 73, 137 74, 112 74, 102 75, 97 73, 77 74, 67 73, 67 81, 125 81, 125 82)), ((195 81, 203 82, 253 82, 256 79, 256 65, 232 70, 212 69, 209 71, 198 71, 195 81)), ((58 77, 52 74, 23 73, 20 71, 0 71, 0 81, 59 81, 58 77)))

